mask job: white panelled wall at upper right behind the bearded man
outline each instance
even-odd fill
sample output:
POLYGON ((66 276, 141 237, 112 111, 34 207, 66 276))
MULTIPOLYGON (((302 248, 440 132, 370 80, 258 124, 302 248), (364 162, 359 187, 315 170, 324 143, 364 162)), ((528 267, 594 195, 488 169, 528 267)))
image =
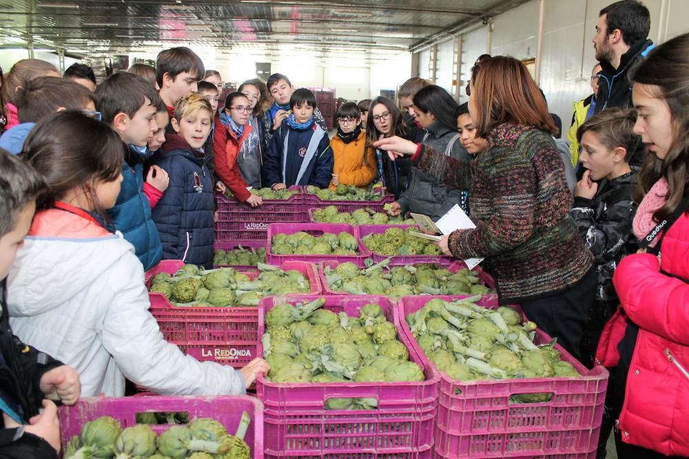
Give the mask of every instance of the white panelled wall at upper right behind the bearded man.
MULTIPOLYGON (((593 34, 599 11, 613 0, 544 0, 543 50, 540 85, 548 99, 548 108, 568 125, 575 100, 590 94, 589 76, 595 63, 593 34)), ((689 0, 645 0, 651 17, 649 38, 660 43, 689 32, 689 0), (662 5, 667 9, 661 17, 662 5)), ((533 58, 536 54, 538 31, 537 0, 524 3, 493 18, 491 50, 493 55, 508 55, 518 59, 533 58)), ((486 52, 487 28, 481 27, 462 35, 461 84, 471 76, 476 58, 486 52)), ((439 47, 440 49, 440 47, 439 47)), ((440 54, 440 52, 438 53, 440 54)), ((421 76, 428 73, 430 53, 419 54, 421 76)), ((439 68, 444 70, 442 64, 439 68)), ((436 82, 442 87, 451 85, 451 72, 438 74, 436 82)), ((461 100, 466 100, 464 88, 461 100)))

